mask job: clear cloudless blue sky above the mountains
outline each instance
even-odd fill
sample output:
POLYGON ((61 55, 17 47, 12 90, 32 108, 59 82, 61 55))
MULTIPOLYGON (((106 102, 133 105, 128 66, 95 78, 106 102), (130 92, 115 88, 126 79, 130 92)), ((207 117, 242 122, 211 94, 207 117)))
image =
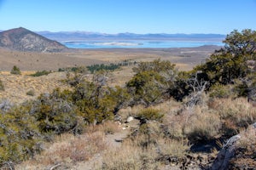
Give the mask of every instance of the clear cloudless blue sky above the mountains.
POLYGON ((256 0, 0 0, 0 30, 220 33, 256 30, 256 0))

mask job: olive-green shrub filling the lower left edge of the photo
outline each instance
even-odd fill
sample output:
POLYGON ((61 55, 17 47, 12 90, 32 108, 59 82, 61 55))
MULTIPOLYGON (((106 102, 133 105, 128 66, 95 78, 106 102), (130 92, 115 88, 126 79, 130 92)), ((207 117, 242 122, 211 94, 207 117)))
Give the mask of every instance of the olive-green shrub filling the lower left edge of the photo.
POLYGON ((28 112, 21 106, 0 114, 0 163, 24 161, 42 149, 38 122, 28 112))

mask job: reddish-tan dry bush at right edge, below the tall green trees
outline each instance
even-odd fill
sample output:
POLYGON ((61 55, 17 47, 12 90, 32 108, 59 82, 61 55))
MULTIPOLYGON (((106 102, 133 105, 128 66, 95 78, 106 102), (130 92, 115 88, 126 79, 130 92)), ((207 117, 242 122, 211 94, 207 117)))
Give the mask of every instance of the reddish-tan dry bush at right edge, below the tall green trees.
POLYGON ((247 127, 256 120, 256 110, 245 98, 212 99, 209 107, 218 112, 220 118, 236 128, 247 127))

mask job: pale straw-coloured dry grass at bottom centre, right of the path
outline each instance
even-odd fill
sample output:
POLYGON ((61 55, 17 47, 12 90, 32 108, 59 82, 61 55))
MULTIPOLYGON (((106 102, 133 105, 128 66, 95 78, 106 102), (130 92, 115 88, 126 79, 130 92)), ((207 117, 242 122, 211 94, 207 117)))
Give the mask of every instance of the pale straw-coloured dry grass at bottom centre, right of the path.
POLYGON ((183 158, 189 146, 186 141, 156 138, 155 144, 142 146, 147 136, 127 139, 117 150, 108 150, 99 169, 160 169, 166 157, 183 158))

